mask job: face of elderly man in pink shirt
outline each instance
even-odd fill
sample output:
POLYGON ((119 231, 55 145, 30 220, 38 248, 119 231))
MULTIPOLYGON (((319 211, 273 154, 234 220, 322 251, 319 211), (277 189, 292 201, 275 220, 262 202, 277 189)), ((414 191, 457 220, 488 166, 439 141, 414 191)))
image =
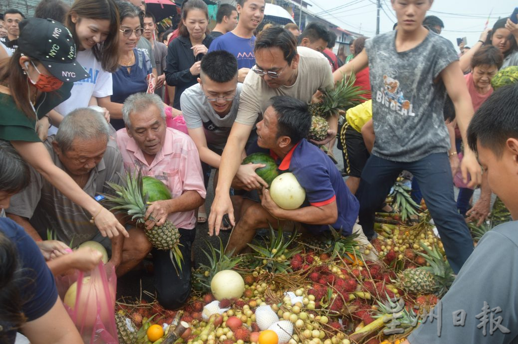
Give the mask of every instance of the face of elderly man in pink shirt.
POLYGON ((160 152, 165 141, 166 125, 156 106, 149 106, 138 113, 130 114, 128 135, 135 140, 144 154, 154 156, 160 152))

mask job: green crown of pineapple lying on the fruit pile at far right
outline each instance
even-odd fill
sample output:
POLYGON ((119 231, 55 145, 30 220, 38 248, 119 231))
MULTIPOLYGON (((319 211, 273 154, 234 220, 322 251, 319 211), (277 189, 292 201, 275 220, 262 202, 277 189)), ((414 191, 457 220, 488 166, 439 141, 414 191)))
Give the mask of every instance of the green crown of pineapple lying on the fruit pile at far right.
POLYGON ((418 269, 427 271, 434 275, 437 287, 436 295, 440 297, 448 291, 455 279, 453 270, 450 263, 448 263, 447 260, 444 260, 444 257, 437 247, 429 249, 423 242, 420 242, 419 245, 426 251, 426 253, 417 252, 418 255, 426 259, 426 262, 429 263, 430 266, 421 266, 418 267, 418 269))

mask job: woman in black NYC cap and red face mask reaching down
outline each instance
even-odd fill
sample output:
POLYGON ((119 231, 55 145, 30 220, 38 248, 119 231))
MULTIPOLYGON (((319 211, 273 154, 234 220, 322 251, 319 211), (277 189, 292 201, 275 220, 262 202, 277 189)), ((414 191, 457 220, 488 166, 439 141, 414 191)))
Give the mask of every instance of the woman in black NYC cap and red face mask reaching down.
POLYGON ((89 77, 76 62, 74 38, 62 24, 30 18, 20 23, 19 48, 0 61, 0 140, 71 201, 92 215, 104 236, 127 236, 119 221, 57 168, 36 130, 48 128, 46 114, 70 96, 73 82, 89 77))

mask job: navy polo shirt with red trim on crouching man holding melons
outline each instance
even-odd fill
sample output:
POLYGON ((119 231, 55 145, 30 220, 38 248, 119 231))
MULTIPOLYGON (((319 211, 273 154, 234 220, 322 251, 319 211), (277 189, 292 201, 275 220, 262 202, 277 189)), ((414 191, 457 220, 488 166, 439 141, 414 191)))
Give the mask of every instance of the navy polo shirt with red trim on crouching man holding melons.
MULTIPOLYGON (((274 155, 273 152, 270 154, 274 155)), ((340 171, 333 161, 314 144, 302 139, 280 161, 279 170, 291 172, 300 186, 306 190, 306 200, 302 206, 323 206, 336 200, 338 219, 332 227, 343 235, 350 235, 356 218, 359 203, 343 181, 340 171)), ((328 230, 327 225, 307 225, 313 233, 328 230)))

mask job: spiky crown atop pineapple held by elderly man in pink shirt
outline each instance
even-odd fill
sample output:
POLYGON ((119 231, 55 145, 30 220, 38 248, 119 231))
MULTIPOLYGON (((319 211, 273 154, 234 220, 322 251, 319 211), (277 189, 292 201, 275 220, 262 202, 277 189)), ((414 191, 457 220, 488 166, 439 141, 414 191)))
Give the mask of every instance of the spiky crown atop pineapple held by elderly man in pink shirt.
POLYGON ((126 181, 125 185, 106 182, 117 196, 103 193, 102 195, 106 198, 104 202, 111 206, 110 211, 125 211, 127 215, 132 216, 132 220, 137 219, 137 222, 143 222, 148 195, 143 195, 142 171, 139 170, 136 174, 127 172, 125 177, 121 174, 119 176, 121 181, 126 181))

